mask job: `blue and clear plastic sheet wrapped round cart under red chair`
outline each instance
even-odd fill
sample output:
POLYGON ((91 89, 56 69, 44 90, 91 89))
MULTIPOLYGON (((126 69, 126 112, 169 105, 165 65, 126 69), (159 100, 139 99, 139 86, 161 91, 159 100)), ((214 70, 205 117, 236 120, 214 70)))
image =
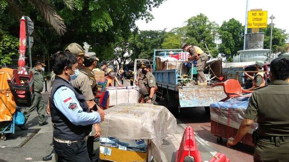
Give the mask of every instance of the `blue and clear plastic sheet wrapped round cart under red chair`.
MULTIPOLYGON (((237 97, 224 102, 211 104, 211 120, 225 126, 239 129, 244 119, 243 115, 246 112, 249 100, 250 97, 237 97)), ((252 134, 257 126, 258 124, 255 120, 253 126, 249 130, 249 134, 252 134)))

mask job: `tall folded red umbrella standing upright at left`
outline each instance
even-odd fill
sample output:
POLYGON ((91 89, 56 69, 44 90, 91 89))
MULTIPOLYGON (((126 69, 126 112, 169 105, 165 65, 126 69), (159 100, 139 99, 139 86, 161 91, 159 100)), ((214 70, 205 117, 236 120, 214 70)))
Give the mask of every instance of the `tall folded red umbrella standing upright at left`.
POLYGON ((19 73, 27 74, 25 66, 25 51, 26 51, 26 29, 25 29, 25 18, 22 16, 20 22, 20 33, 19 33, 19 60, 18 66, 21 67, 19 73))

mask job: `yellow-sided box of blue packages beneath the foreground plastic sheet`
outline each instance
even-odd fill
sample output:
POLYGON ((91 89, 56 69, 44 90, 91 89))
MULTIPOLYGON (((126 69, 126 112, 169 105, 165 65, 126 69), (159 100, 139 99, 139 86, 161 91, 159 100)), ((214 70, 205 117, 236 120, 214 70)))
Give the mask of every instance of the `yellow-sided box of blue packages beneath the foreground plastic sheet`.
POLYGON ((99 157, 110 161, 150 161, 150 140, 100 138, 99 157))

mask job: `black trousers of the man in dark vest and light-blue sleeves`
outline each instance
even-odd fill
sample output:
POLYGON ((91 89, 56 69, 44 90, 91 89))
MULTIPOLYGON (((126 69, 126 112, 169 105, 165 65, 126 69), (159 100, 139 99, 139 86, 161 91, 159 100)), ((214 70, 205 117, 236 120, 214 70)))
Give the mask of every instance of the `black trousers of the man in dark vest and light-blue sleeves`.
POLYGON ((84 140, 71 143, 68 146, 66 143, 60 143, 53 140, 54 150, 58 156, 58 162, 90 162, 88 149, 84 140))

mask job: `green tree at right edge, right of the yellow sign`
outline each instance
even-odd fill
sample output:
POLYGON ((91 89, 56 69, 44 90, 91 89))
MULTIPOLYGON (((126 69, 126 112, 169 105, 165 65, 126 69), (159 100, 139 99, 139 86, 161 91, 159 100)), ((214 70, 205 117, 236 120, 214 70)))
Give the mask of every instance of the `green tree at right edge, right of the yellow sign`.
MULTIPOLYGON (((271 25, 268 25, 267 28, 262 29, 262 32, 265 32, 264 37, 264 49, 270 49, 270 38, 271 38, 271 25)), ((286 41, 288 39, 288 33, 285 30, 275 28, 273 26, 272 32, 272 53, 286 53, 287 45, 286 41)))

